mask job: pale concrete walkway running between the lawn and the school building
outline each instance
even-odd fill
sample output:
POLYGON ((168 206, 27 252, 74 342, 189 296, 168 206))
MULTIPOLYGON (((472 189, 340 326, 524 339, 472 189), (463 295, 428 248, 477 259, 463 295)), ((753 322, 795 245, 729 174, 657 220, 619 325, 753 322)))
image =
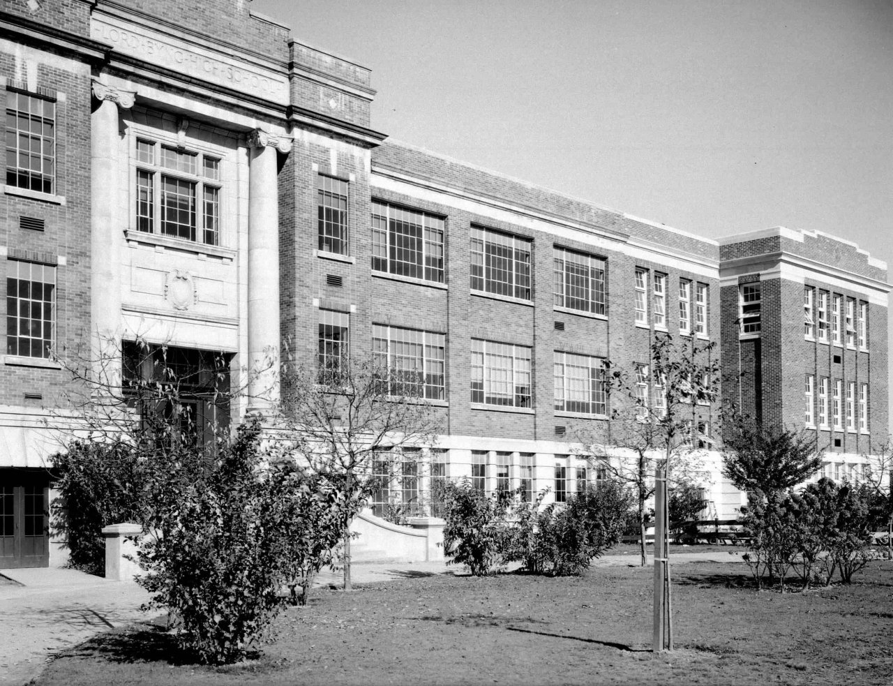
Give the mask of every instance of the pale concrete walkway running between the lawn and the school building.
MULTIPOLYGON (((741 549, 680 553, 675 563, 740 562, 741 549)), ((651 557, 648 557, 651 564, 651 557)), ((593 566, 638 566, 638 554, 607 555, 593 566)), ((380 583, 437 574, 467 573, 444 562, 355 563, 354 583, 380 583)), ((342 583, 340 572, 321 573, 317 587, 342 583)), ((136 583, 105 581, 71 569, 0 570, 0 686, 21 686, 38 676, 56 653, 97 633, 145 620, 139 607, 149 599, 136 583)))

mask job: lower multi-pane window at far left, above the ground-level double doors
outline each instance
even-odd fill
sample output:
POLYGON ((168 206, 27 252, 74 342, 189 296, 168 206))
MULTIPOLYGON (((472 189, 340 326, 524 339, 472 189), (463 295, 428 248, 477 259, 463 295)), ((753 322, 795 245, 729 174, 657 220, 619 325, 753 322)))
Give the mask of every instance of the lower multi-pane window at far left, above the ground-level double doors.
POLYGON ((50 356, 55 328, 55 267, 10 260, 6 277, 6 355, 50 356))

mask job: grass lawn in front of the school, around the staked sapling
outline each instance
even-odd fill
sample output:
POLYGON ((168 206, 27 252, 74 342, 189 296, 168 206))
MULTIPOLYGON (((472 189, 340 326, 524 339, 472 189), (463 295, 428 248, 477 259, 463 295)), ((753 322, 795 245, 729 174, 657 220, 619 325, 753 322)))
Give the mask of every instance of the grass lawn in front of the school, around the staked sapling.
POLYGON ((893 563, 849 587, 756 592, 747 567, 672 567, 677 650, 650 652, 652 568, 579 579, 413 577, 317 590, 240 665, 189 664, 151 625, 106 633, 55 660, 59 684, 890 684, 893 563))

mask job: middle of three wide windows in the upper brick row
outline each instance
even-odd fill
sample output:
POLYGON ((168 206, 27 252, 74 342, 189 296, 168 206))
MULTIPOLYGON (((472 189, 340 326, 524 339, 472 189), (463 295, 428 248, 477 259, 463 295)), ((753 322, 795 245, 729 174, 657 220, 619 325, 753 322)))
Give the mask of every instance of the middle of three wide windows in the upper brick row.
POLYGON ((472 290, 530 300, 530 239, 472 226, 472 290))

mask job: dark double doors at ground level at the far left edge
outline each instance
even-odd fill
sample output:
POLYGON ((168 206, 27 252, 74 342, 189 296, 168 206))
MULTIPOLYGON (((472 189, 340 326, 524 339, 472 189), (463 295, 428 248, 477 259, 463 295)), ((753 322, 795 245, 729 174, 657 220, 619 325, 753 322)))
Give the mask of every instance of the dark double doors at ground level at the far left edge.
POLYGON ((50 564, 46 473, 0 471, 0 569, 50 564))

